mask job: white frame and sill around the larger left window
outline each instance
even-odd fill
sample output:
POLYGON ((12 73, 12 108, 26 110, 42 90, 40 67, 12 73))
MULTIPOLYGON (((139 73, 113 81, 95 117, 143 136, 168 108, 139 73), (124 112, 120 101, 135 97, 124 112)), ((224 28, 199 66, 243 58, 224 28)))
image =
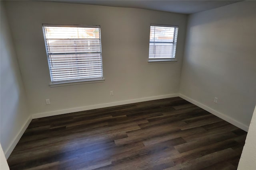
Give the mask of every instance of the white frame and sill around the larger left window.
MULTIPOLYGON (((44 44, 45 44, 45 49, 46 49, 46 55, 47 55, 47 61, 48 61, 48 68, 49 68, 49 73, 50 73, 50 86, 51 87, 56 87, 56 86, 68 86, 68 85, 76 85, 76 84, 87 84, 87 83, 94 83, 94 82, 104 82, 104 77, 103 77, 103 62, 102 62, 102 43, 101 43, 101 29, 100 25, 67 25, 67 24, 42 24, 42 29, 43 29, 43 35, 44 35, 44 44), (48 53, 48 39, 46 38, 46 32, 45 32, 45 27, 84 27, 84 28, 99 28, 99 43, 100 43, 100 52, 89 52, 92 54, 100 54, 100 61, 101 61, 101 77, 95 77, 95 78, 80 78, 80 79, 72 79, 72 80, 58 80, 58 81, 53 81, 52 80, 52 72, 51 72, 51 62, 50 62, 50 55, 52 53, 48 53)), ((55 54, 68 54, 68 55, 75 55, 77 53, 71 52, 71 53, 55 53, 55 54)), ((75 66, 74 66, 75 67, 75 66)))

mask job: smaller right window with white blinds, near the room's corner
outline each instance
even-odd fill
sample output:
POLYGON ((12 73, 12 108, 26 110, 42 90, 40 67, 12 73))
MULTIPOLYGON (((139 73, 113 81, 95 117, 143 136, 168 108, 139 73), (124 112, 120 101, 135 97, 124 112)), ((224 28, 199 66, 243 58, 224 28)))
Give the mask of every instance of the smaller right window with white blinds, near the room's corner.
POLYGON ((178 26, 150 25, 148 61, 175 61, 178 26))

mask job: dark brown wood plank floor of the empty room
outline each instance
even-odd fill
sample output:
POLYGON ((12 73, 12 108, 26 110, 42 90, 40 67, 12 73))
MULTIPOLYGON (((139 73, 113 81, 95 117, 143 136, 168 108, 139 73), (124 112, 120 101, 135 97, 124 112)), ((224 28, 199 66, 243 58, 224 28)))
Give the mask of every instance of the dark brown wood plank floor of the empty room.
POLYGON ((181 98, 33 119, 11 170, 236 170, 246 132, 181 98))

